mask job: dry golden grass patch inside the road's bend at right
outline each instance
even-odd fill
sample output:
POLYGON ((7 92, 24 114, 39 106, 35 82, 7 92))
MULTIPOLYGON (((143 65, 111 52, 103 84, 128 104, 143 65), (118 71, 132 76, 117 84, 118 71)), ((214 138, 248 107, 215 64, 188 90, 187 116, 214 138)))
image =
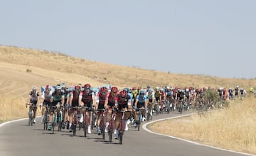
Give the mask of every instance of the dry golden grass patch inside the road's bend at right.
POLYGON ((161 121, 149 126, 158 133, 198 143, 256 154, 256 99, 231 101, 230 107, 205 116, 161 121))

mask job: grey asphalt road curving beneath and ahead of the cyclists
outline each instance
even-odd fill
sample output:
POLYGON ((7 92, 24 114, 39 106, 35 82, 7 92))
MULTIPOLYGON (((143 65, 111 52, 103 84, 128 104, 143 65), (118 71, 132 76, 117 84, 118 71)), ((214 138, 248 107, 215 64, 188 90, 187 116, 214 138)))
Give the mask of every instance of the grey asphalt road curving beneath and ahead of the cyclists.
MULTIPOLYGON (((179 116, 179 114, 161 114, 160 116, 154 116, 153 119, 169 118, 171 116, 179 116)), ((40 121, 40 118, 38 118, 37 121, 40 121)), ((20 120, 0 126, 1 156, 246 155, 195 143, 188 143, 164 135, 156 135, 142 128, 139 131, 134 130, 132 125, 130 125, 129 130, 124 133, 123 144, 119 145, 118 140, 114 140, 112 143, 109 143, 107 139, 102 140, 102 136, 96 134, 95 128, 92 130, 92 134, 85 138, 83 137, 82 130, 78 131, 77 136, 68 133, 68 130, 56 132, 52 135, 49 131, 43 130, 41 123, 36 123, 34 126, 27 126, 27 123, 27 120, 20 120)))

